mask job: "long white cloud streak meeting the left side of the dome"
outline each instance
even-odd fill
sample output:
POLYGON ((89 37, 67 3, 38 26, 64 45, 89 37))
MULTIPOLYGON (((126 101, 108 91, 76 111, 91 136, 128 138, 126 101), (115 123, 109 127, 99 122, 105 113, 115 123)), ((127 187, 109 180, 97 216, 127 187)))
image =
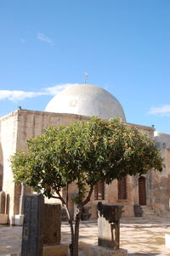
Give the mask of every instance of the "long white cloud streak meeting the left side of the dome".
POLYGON ((73 85, 73 83, 65 83, 54 85, 53 87, 42 88, 39 92, 26 92, 22 90, 0 90, 0 100, 25 100, 27 98, 35 98, 42 95, 56 95, 63 89, 73 85))

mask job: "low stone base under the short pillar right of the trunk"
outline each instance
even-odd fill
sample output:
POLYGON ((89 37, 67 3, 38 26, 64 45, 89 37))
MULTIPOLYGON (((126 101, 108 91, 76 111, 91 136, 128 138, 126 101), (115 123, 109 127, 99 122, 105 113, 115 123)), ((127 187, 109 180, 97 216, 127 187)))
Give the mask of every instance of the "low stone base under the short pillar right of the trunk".
POLYGON ((98 245, 90 245, 88 248, 88 255, 90 256, 126 256, 127 250, 119 248, 113 250, 109 247, 100 247, 98 245))

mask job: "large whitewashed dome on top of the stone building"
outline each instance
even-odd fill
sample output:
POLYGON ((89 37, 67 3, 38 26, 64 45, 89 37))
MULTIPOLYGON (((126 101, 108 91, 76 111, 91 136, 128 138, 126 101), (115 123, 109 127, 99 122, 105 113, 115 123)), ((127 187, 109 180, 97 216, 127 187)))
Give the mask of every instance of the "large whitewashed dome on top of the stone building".
POLYGON ((126 122, 122 105, 105 89, 90 84, 73 84, 55 95, 45 111, 97 116, 103 119, 120 117, 126 122))

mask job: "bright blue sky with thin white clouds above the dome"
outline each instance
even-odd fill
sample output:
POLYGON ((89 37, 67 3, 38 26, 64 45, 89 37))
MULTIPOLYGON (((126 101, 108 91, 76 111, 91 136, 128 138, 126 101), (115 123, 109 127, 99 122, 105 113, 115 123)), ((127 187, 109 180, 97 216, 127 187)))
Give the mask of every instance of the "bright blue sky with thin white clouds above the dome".
POLYGON ((170 134, 169 0, 1 0, 0 117, 70 83, 105 88, 127 122, 170 134))

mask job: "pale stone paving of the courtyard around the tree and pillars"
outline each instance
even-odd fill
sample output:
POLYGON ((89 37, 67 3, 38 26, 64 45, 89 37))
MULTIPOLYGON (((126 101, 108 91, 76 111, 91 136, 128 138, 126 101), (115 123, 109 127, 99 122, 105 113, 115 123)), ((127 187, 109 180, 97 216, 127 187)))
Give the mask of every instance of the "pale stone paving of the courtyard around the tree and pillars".
MULTIPOLYGON (((0 226, 0 255, 20 253, 22 228, 0 226)), ((129 256, 170 256, 170 248, 165 247, 165 234, 170 234, 170 218, 122 218, 121 247, 129 256)), ((70 229, 62 224, 62 242, 70 242, 70 229)), ((88 245, 97 244, 97 223, 82 222, 80 229, 80 251, 88 255, 88 245)), ((82 254, 82 253, 81 253, 82 254)))

